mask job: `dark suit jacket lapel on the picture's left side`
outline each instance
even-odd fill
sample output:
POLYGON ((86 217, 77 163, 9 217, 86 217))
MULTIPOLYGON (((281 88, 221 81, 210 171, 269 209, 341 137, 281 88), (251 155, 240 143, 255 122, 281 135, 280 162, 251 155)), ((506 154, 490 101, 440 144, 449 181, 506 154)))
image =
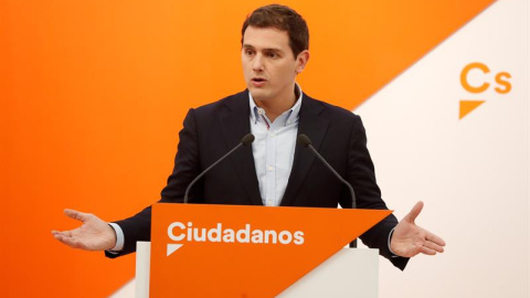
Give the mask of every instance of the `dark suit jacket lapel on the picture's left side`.
MULTIPOLYGON (((234 95, 225 102, 226 110, 220 115, 221 130, 226 141, 226 151, 235 147, 241 139, 251 132, 248 92, 234 95)), ((256 168, 252 146, 237 149, 231 157, 231 162, 240 178, 243 188, 251 198, 250 203, 262 205, 259 185, 257 183, 256 168)))

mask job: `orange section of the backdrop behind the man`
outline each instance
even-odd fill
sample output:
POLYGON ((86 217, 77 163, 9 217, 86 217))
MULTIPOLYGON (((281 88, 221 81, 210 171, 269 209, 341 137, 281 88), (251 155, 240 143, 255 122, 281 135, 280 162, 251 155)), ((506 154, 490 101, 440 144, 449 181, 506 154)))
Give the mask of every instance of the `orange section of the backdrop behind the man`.
MULTIPOLYGON (((491 0, 285 1, 308 21, 299 83, 349 109, 491 0)), ((64 207, 123 219, 158 200, 190 107, 244 88, 240 30, 266 1, 0 2, 0 288, 104 297, 134 256, 71 249, 64 207)))

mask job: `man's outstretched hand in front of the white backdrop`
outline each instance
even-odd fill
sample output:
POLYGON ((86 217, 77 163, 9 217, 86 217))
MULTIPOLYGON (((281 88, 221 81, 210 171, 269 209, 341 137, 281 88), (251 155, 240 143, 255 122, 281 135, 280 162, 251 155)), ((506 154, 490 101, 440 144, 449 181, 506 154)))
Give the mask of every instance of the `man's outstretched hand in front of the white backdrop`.
POLYGON ((436 253, 444 252, 444 240, 414 223, 422 209, 423 202, 417 202, 395 226, 390 242, 390 248, 394 254, 402 257, 413 257, 420 253, 436 255, 436 253))

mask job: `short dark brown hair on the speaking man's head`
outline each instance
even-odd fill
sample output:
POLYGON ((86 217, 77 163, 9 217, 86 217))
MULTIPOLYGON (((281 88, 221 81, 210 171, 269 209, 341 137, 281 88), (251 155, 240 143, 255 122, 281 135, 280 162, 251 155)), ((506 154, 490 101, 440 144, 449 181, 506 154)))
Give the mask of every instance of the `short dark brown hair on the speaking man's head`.
POLYGON ((250 25, 287 31, 289 35, 289 46, 295 58, 301 51, 309 50, 309 30, 307 29, 306 20, 292 8, 271 4, 254 10, 246 17, 243 23, 241 44, 243 44, 246 28, 250 25))

